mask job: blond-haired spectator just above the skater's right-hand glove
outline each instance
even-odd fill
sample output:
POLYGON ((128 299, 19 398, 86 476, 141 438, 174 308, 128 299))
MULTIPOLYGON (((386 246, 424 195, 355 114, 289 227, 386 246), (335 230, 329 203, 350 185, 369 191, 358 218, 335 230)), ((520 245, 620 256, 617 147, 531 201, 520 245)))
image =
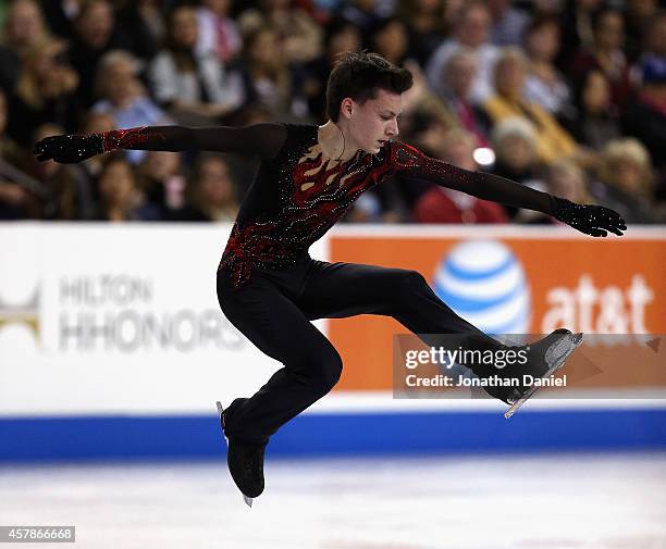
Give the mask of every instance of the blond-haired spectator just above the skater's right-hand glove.
POLYGON ((627 223, 657 222, 652 204, 652 164, 638 139, 610 141, 596 175, 590 192, 599 204, 616 210, 627 223))

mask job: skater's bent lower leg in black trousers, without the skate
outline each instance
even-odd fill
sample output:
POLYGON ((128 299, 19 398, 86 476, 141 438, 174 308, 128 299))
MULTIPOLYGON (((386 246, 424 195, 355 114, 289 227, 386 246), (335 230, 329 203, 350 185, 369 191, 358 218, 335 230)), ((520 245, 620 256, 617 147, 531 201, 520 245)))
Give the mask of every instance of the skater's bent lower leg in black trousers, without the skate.
POLYGON ((319 400, 340 379, 342 359, 303 312, 270 283, 219 287, 226 317, 261 351, 282 362, 268 383, 226 415, 226 434, 264 442, 278 428, 319 400))

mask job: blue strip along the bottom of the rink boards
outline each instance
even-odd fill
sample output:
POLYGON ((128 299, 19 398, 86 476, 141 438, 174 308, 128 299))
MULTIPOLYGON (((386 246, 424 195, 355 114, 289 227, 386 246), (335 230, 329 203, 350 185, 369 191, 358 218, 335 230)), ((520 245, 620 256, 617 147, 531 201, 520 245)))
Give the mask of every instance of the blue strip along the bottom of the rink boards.
MULTIPOLYGON (((215 458, 217 417, 0 420, 0 460, 215 458)), ((436 454, 666 448, 666 409, 309 414, 273 438, 269 456, 436 454)))

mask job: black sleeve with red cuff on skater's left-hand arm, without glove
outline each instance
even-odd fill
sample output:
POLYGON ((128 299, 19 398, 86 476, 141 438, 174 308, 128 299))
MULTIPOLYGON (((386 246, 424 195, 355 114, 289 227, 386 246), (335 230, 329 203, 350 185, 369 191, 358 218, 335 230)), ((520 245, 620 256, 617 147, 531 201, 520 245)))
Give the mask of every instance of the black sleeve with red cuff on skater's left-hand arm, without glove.
POLYGON ((103 151, 138 149, 180 152, 207 150, 257 154, 274 159, 286 141, 283 124, 262 123, 250 126, 146 126, 114 129, 101 134, 103 151))

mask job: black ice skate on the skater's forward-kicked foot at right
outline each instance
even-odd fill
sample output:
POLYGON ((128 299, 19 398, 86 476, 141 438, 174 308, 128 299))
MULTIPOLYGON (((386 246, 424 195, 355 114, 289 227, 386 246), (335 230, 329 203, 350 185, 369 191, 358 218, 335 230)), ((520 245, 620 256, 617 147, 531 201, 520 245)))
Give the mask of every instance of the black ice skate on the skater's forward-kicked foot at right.
POLYGON ((483 387, 491 397, 509 404, 504 416, 508 420, 516 411, 540 388, 540 385, 523 385, 523 375, 534 379, 544 379, 559 370, 569 354, 582 342, 582 334, 572 334, 566 328, 558 328, 552 334, 534 344, 511 347, 515 351, 526 350, 528 361, 526 364, 511 364, 504 369, 495 369, 494 375, 499 378, 518 379, 516 386, 488 386, 483 387))

